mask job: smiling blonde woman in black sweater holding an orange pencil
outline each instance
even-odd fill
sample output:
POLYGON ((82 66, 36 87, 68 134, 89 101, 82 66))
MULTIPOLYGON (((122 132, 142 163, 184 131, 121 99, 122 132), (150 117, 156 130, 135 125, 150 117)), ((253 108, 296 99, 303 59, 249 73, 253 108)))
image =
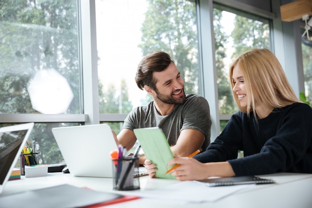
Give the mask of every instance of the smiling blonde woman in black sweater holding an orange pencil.
MULTIPOLYGON (((207 150, 176 157, 180 181, 278 172, 312 173, 312 109, 298 100, 276 56, 268 49, 240 55, 229 70, 240 111, 207 150), (244 157, 237 159, 239 150, 244 157)), ((151 177, 156 166, 146 161, 151 177)))

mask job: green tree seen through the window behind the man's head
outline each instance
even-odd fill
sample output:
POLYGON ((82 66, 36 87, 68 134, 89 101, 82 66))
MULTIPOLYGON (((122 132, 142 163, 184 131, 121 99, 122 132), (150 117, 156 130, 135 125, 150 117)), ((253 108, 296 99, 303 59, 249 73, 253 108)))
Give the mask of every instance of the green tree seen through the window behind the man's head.
POLYGON ((184 80, 185 93, 198 90, 198 41, 195 2, 188 0, 147 0, 142 24, 143 56, 164 51, 170 54, 184 80), (182 12, 181 12, 182 11, 182 12))

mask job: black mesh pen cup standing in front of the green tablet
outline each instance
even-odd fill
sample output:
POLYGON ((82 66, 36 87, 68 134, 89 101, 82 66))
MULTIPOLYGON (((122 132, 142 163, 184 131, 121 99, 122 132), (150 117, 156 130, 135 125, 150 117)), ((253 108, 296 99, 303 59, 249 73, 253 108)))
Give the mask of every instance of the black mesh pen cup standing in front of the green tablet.
POLYGON ((140 189, 139 177, 135 177, 135 171, 139 171, 139 158, 126 157, 113 159, 113 189, 129 191, 140 189))

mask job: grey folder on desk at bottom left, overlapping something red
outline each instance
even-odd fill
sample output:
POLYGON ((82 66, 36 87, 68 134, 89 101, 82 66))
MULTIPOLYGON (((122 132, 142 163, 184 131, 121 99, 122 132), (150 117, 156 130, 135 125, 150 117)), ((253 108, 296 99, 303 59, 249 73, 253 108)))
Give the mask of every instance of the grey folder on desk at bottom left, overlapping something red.
POLYGON ((0 196, 0 207, 6 208, 80 208, 122 198, 122 195, 104 193, 71 185, 0 196))

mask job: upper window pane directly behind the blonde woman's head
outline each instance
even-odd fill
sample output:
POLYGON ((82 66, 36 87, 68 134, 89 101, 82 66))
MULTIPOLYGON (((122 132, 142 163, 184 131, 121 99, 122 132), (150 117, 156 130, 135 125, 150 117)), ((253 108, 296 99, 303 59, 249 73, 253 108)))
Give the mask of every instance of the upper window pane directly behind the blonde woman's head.
POLYGON ((219 113, 233 114, 238 108, 234 104, 230 89, 230 64, 249 49, 271 48, 270 21, 218 4, 213 12, 219 113))

